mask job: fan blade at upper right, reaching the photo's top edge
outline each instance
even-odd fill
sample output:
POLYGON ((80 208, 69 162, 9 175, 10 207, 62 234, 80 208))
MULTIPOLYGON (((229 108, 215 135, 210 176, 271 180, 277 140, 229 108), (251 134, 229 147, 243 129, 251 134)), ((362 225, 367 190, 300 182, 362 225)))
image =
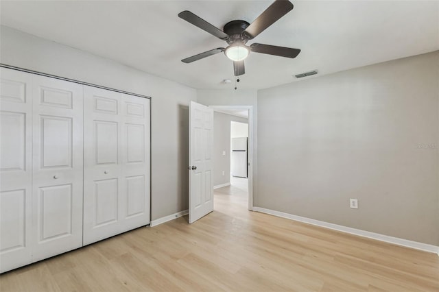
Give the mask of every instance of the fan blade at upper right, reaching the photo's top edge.
POLYGON ((261 34, 267 27, 281 19, 282 16, 287 14, 294 8, 294 5, 285 0, 276 0, 270 5, 258 18, 250 24, 244 34, 250 38, 250 40, 261 34))

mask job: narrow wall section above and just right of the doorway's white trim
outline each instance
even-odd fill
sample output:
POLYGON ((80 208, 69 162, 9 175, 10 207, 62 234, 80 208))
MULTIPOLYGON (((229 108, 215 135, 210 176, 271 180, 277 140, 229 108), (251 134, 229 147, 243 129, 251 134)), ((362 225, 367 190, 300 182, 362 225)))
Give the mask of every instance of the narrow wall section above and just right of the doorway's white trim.
MULTIPOLYGON (((244 82, 244 81, 243 81, 244 82)), ((258 180, 258 102, 257 102, 257 90, 255 89, 198 89, 197 90, 197 102, 204 104, 205 106, 252 106, 252 136, 253 136, 253 184, 250 186, 252 189, 253 197, 257 194, 256 182, 258 180)))

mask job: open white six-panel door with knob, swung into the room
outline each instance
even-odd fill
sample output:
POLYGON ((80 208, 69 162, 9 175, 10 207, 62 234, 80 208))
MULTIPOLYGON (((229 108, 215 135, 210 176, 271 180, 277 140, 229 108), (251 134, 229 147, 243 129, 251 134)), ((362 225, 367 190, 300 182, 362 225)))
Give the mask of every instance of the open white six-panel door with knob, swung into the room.
POLYGON ((213 109, 189 106, 189 223, 213 211, 213 109))

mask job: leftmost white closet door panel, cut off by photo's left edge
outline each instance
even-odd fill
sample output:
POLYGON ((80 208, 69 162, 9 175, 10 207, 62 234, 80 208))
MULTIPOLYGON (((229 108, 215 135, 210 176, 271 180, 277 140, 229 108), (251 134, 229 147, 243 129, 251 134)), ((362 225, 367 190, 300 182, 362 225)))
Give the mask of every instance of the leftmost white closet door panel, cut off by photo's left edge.
POLYGON ((32 262, 32 75, 0 77, 1 273, 32 262))

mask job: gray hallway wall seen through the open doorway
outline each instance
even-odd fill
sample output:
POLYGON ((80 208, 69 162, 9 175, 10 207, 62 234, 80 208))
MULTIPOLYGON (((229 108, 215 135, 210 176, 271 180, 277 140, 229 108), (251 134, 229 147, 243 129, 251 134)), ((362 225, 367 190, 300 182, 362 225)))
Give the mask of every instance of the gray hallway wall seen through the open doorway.
POLYGON ((214 112, 213 114, 213 185, 230 184, 230 121, 248 123, 248 119, 214 112), (226 155, 222 155, 226 151, 226 155), (224 171, 224 175, 222 175, 224 171))

